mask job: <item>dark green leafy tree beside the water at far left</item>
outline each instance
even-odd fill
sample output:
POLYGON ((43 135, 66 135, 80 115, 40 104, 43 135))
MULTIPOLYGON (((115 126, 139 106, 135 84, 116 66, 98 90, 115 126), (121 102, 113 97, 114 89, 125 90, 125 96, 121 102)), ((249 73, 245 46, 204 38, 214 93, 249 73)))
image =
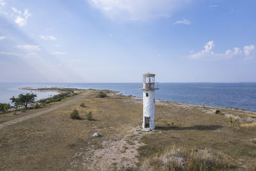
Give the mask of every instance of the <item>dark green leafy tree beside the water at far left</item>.
POLYGON ((12 103, 14 103, 14 106, 17 107, 25 107, 26 109, 28 108, 29 104, 34 104, 35 103, 35 98, 36 98, 36 94, 19 94, 18 98, 15 98, 14 96, 12 96, 12 98, 10 98, 10 100, 12 100, 12 103))

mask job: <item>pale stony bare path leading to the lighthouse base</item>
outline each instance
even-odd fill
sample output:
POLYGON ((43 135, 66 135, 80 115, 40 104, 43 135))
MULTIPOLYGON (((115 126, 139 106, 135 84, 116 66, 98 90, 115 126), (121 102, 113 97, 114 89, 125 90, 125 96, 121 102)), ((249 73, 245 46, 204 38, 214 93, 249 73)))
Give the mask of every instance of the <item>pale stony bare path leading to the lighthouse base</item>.
POLYGON ((85 151, 77 151, 70 165, 76 168, 77 158, 82 158, 83 170, 122 170, 136 168, 138 162, 138 148, 143 134, 141 127, 132 128, 120 140, 102 142, 102 148, 94 149, 89 143, 85 151))

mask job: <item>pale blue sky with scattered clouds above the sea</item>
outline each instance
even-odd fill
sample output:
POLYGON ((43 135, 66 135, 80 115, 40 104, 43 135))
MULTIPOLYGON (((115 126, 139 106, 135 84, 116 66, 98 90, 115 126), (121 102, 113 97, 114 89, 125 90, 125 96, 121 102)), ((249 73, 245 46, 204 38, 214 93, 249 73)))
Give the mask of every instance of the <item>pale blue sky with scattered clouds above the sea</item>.
POLYGON ((256 82, 255 0, 0 0, 0 82, 256 82))

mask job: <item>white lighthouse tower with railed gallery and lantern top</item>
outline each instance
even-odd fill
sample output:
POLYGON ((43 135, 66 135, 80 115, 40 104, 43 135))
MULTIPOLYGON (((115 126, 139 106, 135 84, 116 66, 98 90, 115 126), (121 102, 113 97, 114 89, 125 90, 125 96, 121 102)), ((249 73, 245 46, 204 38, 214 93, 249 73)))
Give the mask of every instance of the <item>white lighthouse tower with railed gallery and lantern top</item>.
POLYGON ((143 131, 155 129, 155 90, 158 83, 155 82, 153 73, 143 74, 143 131))

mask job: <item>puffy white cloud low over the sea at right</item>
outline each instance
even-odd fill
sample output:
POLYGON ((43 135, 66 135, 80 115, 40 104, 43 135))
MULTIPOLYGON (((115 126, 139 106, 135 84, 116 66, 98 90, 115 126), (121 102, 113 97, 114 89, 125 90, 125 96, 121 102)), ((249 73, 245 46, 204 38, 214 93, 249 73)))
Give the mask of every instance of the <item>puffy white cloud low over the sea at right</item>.
POLYGON ((191 54, 189 57, 191 59, 228 59, 233 56, 241 55, 243 53, 242 50, 238 47, 234 47, 233 50, 226 50, 222 54, 218 54, 212 51, 212 48, 215 47, 214 41, 209 41, 205 46, 204 49, 200 52, 197 52, 195 54, 191 54))

